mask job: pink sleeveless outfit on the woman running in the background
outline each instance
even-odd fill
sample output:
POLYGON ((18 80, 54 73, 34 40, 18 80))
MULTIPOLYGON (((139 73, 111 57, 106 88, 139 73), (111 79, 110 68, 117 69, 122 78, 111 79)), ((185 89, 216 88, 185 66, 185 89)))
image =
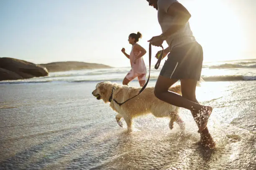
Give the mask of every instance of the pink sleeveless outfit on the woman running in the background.
POLYGON ((138 77, 138 80, 146 80, 147 68, 145 62, 142 57, 136 60, 137 56, 141 53, 141 51, 134 50, 133 47, 130 53, 130 63, 132 69, 128 72, 126 78, 128 80, 133 80, 135 77, 138 77), (135 64, 134 60, 136 60, 135 64))

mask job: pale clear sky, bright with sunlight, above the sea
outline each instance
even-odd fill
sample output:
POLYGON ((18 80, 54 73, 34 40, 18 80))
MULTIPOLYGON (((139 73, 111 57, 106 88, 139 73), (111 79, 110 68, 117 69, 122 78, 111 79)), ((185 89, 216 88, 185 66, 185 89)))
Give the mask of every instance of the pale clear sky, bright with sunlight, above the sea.
MULTIPOLYGON (((179 2, 192 15, 204 62, 256 58, 256 0, 179 2)), ((131 52, 128 35, 138 31, 147 51, 147 40, 162 33, 146 0, 0 0, 0 57, 124 67, 130 62, 121 49, 131 52)), ((148 53, 143 58, 147 64, 148 53)))

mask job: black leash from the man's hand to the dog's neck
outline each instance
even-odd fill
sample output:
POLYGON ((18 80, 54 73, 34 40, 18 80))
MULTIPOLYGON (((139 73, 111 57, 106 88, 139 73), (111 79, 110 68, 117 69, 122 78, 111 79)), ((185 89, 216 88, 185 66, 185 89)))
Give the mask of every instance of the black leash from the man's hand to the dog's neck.
MULTIPOLYGON (((164 47, 161 45, 160 46, 162 48, 162 52, 161 52, 161 55, 159 56, 157 62, 156 62, 156 65, 155 65, 155 69, 158 69, 159 68, 159 65, 160 65, 160 62, 162 60, 162 57, 164 55, 164 47)), ((122 103, 119 103, 117 102, 115 99, 113 99, 119 106, 123 105, 125 102, 133 99, 134 97, 138 96, 141 92, 143 92, 143 90, 146 88, 146 86, 148 85, 148 81, 149 81, 149 77, 150 77, 150 67, 151 67, 151 43, 149 43, 149 49, 148 49, 148 59, 149 59, 149 73, 148 73, 148 80, 147 82, 145 83, 145 85, 143 85, 143 87, 141 88, 141 90, 139 91, 139 93, 127 100, 125 100, 124 102, 122 103)), ((112 89, 112 92, 111 92, 111 95, 110 95, 110 98, 109 98, 109 101, 111 102, 112 100, 112 96, 113 96, 113 91, 114 91, 115 87, 113 87, 112 89)))

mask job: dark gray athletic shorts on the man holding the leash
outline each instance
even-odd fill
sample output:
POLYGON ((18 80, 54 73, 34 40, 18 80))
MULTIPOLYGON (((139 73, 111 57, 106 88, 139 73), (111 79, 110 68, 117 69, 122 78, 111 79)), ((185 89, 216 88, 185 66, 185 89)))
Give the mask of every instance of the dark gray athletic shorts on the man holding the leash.
POLYGON ((200 80, 202 61, 202 46, 197 42, 175 47, 169 53, 160 75, 170 79, 200 80))

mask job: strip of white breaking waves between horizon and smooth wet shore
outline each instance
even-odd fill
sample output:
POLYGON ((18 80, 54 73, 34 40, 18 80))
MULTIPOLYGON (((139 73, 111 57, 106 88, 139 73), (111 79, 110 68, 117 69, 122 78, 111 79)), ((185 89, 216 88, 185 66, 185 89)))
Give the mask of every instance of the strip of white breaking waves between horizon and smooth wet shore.
MULTIPOLYGON (((162 62, 163 64, 164 62, 162 62)), ((158 70, 151 65, 151 78, 156 80, 158 70)), ((147 66, 148 68, 148 66, 147 66)), ((122 81, 131 67, 113 67, 95 70, 72 70, 67 72, 50 72, 47 77, 34 77, 26 80, 0 81, 0 84, 36 83, 36 82, 92 82, 92 81, 122 81)), ((256 80, 256 59, 223 62, 207 62, 202 68, 202 78, 205 81, 249 81, 256 80)))

